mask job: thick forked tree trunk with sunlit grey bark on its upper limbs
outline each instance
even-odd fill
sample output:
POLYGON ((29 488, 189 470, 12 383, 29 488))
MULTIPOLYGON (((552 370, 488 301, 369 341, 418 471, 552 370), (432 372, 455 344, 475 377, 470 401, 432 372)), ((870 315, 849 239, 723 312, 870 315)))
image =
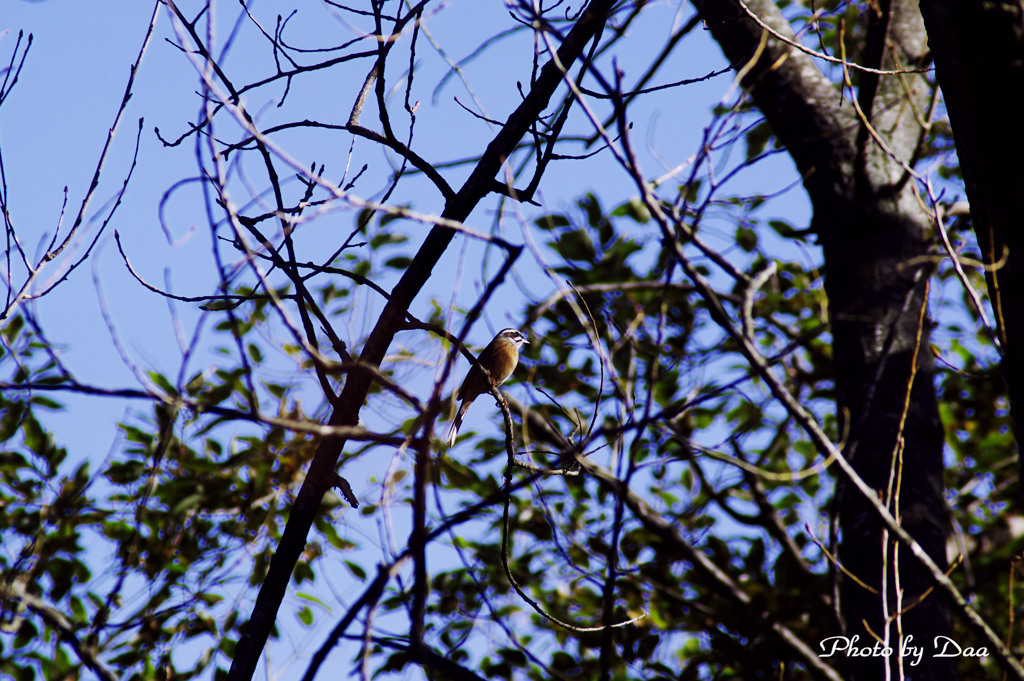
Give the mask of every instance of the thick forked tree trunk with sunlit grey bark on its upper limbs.
MULTIPOLYGON (((824 250, 845 452, 872 488, 884 498, 895 497, 890 503, 897 517, 945 565, 943 434, 928 351, 929 271, 912 264, 927 252, 929 223, 900 163, 890 156, 904 162, 912 158, 923 134, 918 114, 927 111, 931 87, 911 74, 857 73, 858 114, 850 93, 841 93, 813 57, 782 41, 768 38, 751 65, 764 29, 736 0, 694 4, 733 67, 749 68, 743 86, 792 155, 810 197, 811 226, 824 250), (888 492, 894 487, 897 495, 888 492)), ((774 31, 793 37, 774 3, 748 0, 745 5, 774 31)), ((860 62, 883 70, 921 63, 925 32, 915 3, 896 0, 891 6, 882 3, 882 10, 865 28, 860 62)), ((897 608, 896 585, 905 607, 930 580, 906 551, 899 553, 900 569, 894 574, 893 544, 885 541, 874 513, 843 480, 837 495, 840 561, 880 592, 886 574, 887 603, 843 580, 842 625, 846 635, 859 636, 859 644, 869 646, 873 637, 863 623, 884 635, 884 612, 897 608)), ((913 635, 915 644, 948 635, 949 627, 948 610, 937 597, 903 614, 901 623, 903 635, 913 635)), ((892 641, 895 626, 889 632, 892 641)), ((893 678, 898 678, 897 657, 889 657, 893 678)), ((885 664, 885 657, 853 657, 850 673, 855 679, 886 678, 885 664)), ((914 679, 955 678, 953 666, 942 658, 925 657, 905 673, 914 679)))

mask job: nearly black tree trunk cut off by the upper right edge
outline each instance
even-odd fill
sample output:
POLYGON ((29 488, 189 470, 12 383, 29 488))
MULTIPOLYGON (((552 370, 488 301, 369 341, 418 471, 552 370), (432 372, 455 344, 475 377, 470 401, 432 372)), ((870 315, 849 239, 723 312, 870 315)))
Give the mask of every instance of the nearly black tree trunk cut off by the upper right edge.
POLYGON ((1024 3, 922 0, 921 12, 978 245, 993 266, 988 291, 1019 440, 1024 432, 1024 3), (995 267, 1004 256, 1006 262, 995 267))

